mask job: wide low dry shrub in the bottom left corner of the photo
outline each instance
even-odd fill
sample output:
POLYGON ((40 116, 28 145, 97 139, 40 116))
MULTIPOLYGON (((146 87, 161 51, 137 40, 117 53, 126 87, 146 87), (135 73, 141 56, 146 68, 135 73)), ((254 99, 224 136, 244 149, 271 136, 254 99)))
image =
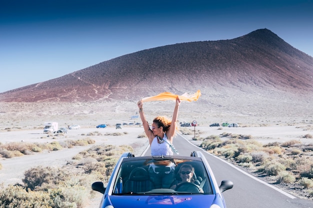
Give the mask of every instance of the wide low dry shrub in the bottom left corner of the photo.
POLYGON ((46 192, 34 192, 12 185, 0 190, 0 202, 0 208, 52 208, 53 205, 46 192))

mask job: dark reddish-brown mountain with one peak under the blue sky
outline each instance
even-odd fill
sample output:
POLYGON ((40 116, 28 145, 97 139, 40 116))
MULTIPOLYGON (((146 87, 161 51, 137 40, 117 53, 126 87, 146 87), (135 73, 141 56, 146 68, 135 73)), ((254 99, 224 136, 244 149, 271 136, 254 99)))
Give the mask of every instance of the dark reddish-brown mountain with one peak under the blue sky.
MULTIPOLYGON (((268 29, 230 40, 178 43, 126 54, 59 78, 0 93, 1 102, 136 101, 201 90, 202 99, 256 94, 310 98, 313 58, 268 29)), ((220 105, 220 104, 217 104, 220 105)))

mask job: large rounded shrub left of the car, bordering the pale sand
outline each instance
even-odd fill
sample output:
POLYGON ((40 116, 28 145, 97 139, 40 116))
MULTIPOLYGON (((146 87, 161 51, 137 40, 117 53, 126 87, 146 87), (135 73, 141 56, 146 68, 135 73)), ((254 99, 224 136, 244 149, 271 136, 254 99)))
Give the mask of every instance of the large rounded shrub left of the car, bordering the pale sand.
POLYGON ((66 179, 67 175, 59 169, 38 166, 25 171, 22 181, 26 188, 34 190, 42 184, 58 184, 66 179))

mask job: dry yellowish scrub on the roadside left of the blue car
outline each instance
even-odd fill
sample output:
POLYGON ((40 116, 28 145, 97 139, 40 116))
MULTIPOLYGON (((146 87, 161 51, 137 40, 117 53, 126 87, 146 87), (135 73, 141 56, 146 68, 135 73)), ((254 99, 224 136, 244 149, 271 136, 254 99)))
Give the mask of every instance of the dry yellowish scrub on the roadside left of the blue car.
POLYGON ((23 184, 0 190, 0 208, 83 208, 93 197, 90 184, 105 181, 120 154, 128 146, 94 146, 81 152, 80 159, 63 168, 35 167, 24 173, 23 184))

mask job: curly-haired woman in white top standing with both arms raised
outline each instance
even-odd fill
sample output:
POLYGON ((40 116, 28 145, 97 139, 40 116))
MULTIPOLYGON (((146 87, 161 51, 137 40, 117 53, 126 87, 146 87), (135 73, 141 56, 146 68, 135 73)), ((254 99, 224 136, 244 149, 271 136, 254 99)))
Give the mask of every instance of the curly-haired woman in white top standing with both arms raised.
POLYGON ((139 115, 142 121, 143 129, 146 136, 149 139, 152 156, 173 155, 172 142, 177 128, 176 120, 178 116, 178 107, 180 104, 179 97, 176 97, 175 108, 172 116, 172 120, 168 120, 165 117, 158 116, 153 119, 151 129, 148 122, 145 119, 142 109, 142 100, 139 100, 137 105, 139 108, 139 115))

